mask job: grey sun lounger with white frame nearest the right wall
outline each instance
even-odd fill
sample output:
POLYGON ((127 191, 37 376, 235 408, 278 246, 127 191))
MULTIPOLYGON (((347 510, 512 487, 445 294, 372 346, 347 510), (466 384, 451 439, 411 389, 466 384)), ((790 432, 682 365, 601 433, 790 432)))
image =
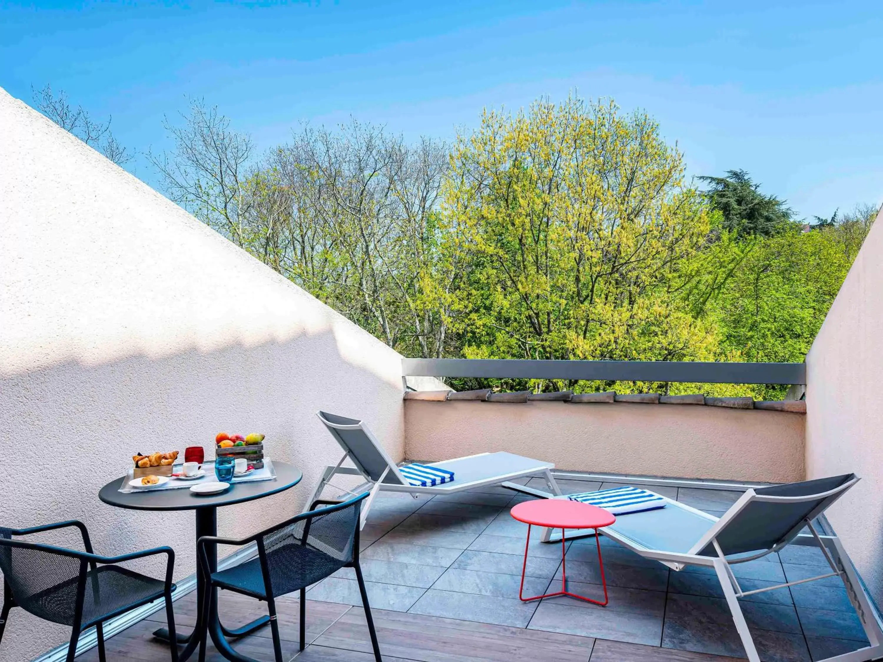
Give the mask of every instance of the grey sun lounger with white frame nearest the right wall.
POLYGON ((871 645, 827 658, 827 662, 870 660, 883 655, 883 630, 840 539, 819 534, 813 524, 816 517, 857 481, 855 474, 848 474, 750 489, 720 519, 666 498, 665 508, 621 515, 601 533, 673 570, 689 565, 713 568, 751 662, 759 662, 760 658, 738 598, 839 576, 871 645), (731 567, 778 552, 789 544, 818 545, 830 565, 830 572, 743 591, 731 567))

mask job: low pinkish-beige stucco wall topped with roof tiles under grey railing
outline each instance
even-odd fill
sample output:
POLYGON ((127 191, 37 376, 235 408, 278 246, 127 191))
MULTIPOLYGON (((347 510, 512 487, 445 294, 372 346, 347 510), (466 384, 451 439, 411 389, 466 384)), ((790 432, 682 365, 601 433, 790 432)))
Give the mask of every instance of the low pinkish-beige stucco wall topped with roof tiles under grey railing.
POLYGON ((788 482, 804 478, 804 415, 683 404, 406 400, 405 454, 506 450, 562 470, 788 482))

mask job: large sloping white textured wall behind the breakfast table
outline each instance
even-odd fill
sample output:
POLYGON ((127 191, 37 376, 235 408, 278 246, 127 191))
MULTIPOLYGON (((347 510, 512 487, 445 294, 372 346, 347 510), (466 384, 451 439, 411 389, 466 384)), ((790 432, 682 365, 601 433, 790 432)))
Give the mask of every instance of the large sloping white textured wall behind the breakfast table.
MULTIPOLYGON (((298 512, 336 463, 319 408, 365 418, 403 456, 396 352, 2 89, 0 258, 2 525, 79 518, 98 553, 171 545, 181 577, 192 512, 98 500, 136 451, 266 433, 304 482, 222 508, 232 536, 298 512)), ((67 637, 14 610, 0 659, 67 637)))

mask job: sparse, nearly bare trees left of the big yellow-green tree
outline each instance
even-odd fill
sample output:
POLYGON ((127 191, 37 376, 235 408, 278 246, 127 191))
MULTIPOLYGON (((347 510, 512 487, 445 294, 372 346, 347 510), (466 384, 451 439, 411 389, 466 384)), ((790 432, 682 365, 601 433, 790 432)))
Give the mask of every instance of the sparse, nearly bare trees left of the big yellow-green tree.
POLYGON ((256 158, 217 108, 194 101, 181 120, 165 121, 174 149, 148 154, 171 199, 390 347, 450 350, 461 270, 437 248, 442 143, 353 121, 256 158))

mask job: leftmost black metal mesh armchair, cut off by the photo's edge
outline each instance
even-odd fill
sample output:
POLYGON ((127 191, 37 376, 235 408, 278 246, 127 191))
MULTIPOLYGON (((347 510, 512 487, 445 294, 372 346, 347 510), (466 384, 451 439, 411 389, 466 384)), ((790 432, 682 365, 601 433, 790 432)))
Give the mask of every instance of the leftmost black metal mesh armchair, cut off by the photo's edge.
MULTIPOLYGON (((171 609, 171 591, 175 588, 171 582, 174 565, 175 553, 170 547, 156 547, 122 556, 99 556, 92 550, 86 526, 76 521, 30 529, 0 527, 0 570, 4 575, 0 642, 3 641, 9 610, 19 606, 46 621, 71 626, 67 662, 72 662, 77 653, 80 634, 94 625, 98 634, 98 657, 105 662, 103 621, 157 598, 165 598, 170 639, 174 642, 175 616, 171 609), (69 526, 77 527, 82 533, 85 552, 12 539, 13 536, 69 526), (164 581, 116 565, 155 554, 168 556, 164 581)), ((177 646, 174 643, 171 644, 171 658, 177 662, 177 646)))

